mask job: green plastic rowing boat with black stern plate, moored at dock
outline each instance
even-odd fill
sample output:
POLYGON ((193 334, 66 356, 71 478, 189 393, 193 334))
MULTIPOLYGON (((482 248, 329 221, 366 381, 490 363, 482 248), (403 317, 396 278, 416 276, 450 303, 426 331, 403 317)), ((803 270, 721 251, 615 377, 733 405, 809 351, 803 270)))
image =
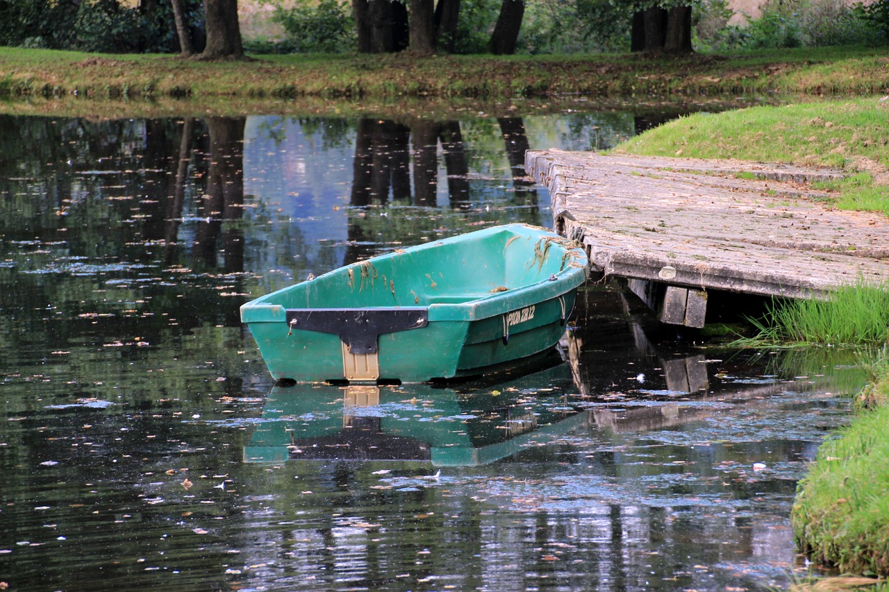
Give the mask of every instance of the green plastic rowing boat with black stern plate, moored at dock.
POLYGON ((509 224, 335 269, 241 320, 277 380, 453 379, 552 348, 586 275, 581 245, 509 224))

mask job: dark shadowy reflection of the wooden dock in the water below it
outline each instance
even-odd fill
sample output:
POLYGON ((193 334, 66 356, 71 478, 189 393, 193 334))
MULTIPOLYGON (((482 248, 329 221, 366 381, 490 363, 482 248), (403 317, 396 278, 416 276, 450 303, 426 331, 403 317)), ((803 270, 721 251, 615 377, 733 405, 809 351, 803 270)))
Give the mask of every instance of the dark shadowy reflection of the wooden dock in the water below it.
MULTIPOLYGON (((727 368, 721 360, 708 360, 698 349, 665 345, 659 335, 674 331, 653 322, 650 311, 629 293, 581 290, 574 321, 562 345, 581 396, 579 407, 589 413, 589 425, 613 434, 673 428, 709 420, 725 405, 767 407, 787 390, 824 388, 823 382, 805 377, 773 375, 745 382, 720 377, 727 368), (720 371, 709 364, 719 364, 720 371)), ((811 372, 792 367, 784 373, 811 372)))

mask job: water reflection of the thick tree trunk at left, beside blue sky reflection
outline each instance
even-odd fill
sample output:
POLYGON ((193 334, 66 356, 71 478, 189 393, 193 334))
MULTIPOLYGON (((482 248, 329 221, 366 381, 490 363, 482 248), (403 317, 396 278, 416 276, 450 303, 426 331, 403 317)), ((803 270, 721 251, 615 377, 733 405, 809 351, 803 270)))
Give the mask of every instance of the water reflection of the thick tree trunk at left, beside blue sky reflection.
MULTIPOLYGON (((197 227, 195 254, 214 264, 222 220, 239 220, 244 212, 245 117, 208 117, 210 168, 206 193, 201 201, 204 218, 197 227)), ((222 234, 226 271, 244 270, 244 236, 228 225, 222 234)))

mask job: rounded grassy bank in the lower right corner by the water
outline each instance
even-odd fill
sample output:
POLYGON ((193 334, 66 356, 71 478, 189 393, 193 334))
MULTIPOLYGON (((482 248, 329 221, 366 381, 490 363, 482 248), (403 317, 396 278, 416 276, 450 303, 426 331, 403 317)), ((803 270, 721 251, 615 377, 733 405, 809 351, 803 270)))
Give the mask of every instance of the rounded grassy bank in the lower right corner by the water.
MULTIPOLYGON (((885 350, 873 388, 889 396, 885 350)), ((889 575, 889 405, 862 412, 821 445, 797 488, 791 522, 797 542, 843 572, 889 575)))

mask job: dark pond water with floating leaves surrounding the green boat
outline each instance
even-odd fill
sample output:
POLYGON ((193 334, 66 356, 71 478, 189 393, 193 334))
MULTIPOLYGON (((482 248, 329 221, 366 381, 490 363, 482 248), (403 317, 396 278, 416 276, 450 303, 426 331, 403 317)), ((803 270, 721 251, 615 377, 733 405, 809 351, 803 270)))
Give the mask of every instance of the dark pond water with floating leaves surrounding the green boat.
POLYGON ((786 584, 797 479, 865 380, 843 352, 702 341, 593 285, 521 372, 286 386, 239 321, 399 245, 549 226, 525 149, 643 119, 0 116, 0 582, 786 584))

